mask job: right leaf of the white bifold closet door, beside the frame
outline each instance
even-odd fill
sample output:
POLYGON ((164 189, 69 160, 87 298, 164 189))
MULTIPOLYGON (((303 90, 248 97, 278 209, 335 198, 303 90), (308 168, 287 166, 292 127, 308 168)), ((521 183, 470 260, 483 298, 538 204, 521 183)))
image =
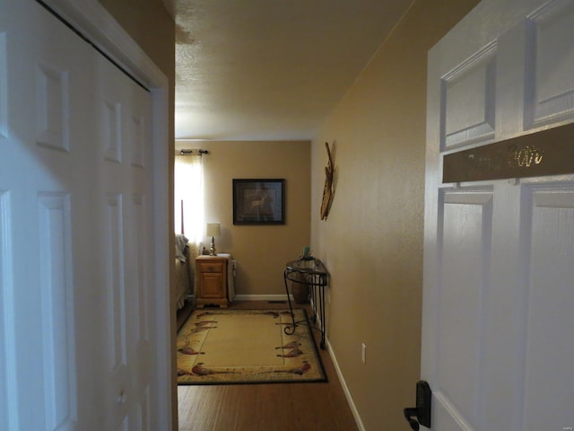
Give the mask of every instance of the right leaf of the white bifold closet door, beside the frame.
POLYGON ((100 165, 99 193, 105 197, 106 223, 102 241, 107 251, 106 340, 109 357, 109 427, 152 429, 149 403, 152 394, 153 354, 149 301, 152 251, 147 205, 151 171, 151 101, 148 92, 104 58, 97 58, 100 73, 96 104, 100 165), (147 407, 146 407, 147 406, 147 407), (125 420, 127 419, 127 420, 125 420))

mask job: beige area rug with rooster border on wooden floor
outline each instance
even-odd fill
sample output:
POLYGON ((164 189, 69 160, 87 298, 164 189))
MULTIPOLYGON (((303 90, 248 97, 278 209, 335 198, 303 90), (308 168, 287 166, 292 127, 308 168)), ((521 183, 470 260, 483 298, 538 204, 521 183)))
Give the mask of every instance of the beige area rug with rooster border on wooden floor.
POLYGON ((289 310, 192 312, 178 331, 178 384, 326 382, 309 325, 288 335, 289 324, 289 310))

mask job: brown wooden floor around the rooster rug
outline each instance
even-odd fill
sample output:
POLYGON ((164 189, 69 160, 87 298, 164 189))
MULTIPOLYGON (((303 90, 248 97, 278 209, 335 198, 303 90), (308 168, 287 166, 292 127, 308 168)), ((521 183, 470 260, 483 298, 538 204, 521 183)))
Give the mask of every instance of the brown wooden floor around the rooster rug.
MULTIPOLYGON (((285 309, 289 305, 246 301, 230 308, 285 309)), ((320 333, 314 332, 317 339, 320 333)), ((320 354, 328 383, 178 386, 179 431, 358 430, 331 357, 326 350, 320 354)))

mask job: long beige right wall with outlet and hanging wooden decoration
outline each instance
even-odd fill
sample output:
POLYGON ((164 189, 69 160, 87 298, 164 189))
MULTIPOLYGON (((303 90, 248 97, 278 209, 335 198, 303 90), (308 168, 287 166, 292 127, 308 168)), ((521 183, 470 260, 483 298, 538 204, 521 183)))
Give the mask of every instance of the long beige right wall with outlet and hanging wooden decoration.
POLYGON ((311 246, 331 273, 328 339, 367 430, 408 428, 402 412, 420 376, 427 50, 477 3, 414 2, 313 141, 311 246), (326 141, 337 183, 320 221, 326 141))

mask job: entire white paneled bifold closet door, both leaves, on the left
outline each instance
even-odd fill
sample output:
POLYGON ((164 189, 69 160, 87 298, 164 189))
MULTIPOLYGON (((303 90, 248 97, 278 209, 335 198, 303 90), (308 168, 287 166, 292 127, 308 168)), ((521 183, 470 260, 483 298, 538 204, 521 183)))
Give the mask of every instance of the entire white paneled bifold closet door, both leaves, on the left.
POLYGON ((149 92, 0 0, 0 429, 158 429, 149 92))

